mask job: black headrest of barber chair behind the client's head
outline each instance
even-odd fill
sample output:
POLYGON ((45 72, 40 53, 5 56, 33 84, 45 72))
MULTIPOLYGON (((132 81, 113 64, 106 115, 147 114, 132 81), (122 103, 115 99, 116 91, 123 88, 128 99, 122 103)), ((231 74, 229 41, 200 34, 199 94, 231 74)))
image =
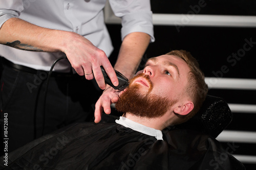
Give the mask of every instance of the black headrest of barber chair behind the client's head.
POLYGON ((199 112, 176 127, 204 132, 216 138, 231 120, 232 113, 227 103, 222 98, 207 95, 199 112))

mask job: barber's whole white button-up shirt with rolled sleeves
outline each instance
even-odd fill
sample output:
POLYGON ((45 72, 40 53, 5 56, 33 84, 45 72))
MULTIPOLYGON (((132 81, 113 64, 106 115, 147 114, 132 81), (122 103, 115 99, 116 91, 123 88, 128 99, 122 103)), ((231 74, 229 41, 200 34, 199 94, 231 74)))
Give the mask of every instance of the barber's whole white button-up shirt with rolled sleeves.
MULTIPOLYGON (((144 32, 154 41, 150 0, 109 2, 115 15, 122 18, 122 39, 132 32, 144 32)), ((105 3, 106 0, 1 0, 0 27, 6 20, 18 17, 40 27, 76 32, 109 56, 113 46, 104 23, 105 3)), ((49 71, 61 54, 23 51, 0 44, 0 56, 15 64, 49 71)), ((54 70, 70 71, 70 64, 60 60, 54 70)))

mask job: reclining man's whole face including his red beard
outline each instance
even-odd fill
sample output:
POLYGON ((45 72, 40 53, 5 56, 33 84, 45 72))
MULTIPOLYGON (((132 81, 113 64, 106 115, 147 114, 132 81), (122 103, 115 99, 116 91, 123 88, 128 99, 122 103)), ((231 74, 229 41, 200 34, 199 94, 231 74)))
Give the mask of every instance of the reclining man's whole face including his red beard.
POLYGON ((158 117, 184 96, 189 67, 179 57, 163 55, 146 62, 116 104, 122 112, 158 117))

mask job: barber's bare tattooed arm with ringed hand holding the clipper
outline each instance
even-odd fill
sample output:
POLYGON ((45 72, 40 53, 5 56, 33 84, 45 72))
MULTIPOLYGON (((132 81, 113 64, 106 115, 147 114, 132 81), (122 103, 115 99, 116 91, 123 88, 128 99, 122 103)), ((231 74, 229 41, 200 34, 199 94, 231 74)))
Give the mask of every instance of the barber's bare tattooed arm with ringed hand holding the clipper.
POLYGON ((12 17, 0 28, 0 43, 20 50, 36 52, 63 52, 72 67, 86 79, 95 77, 99 87, 105 88, 100 69, 102 65, 114 85, 118 80, 108 57, 88 39, 74 32, 38 27, 22 19, 12 17))

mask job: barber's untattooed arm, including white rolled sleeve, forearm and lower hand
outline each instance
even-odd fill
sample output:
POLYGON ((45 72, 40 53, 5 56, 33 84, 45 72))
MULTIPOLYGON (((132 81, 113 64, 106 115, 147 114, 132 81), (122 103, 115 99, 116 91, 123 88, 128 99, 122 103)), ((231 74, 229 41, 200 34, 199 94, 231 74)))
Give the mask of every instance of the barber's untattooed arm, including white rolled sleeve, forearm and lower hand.
MULTIPOLYGON (((148 43, 155 40, 150 0, 109 2, 114 14, 122 18, 123 42, 114 68, 130 79, 134 76, 148 43)), ((119 94, 112 87, 106 87, 95 105, 95 123, 101 120, 103 110, 110 114, 110 106, 118 101, 119 94)))

